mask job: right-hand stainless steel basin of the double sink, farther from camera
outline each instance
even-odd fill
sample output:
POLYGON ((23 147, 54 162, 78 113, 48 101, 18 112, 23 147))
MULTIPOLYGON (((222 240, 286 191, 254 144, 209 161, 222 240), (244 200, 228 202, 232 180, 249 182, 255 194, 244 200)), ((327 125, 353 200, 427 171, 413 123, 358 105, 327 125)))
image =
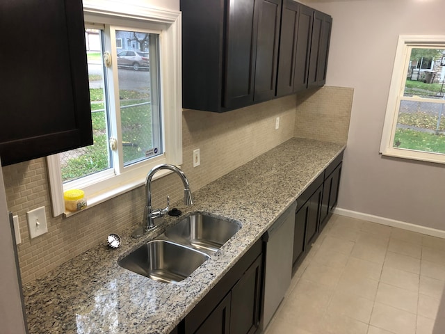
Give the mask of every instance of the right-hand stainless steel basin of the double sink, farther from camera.
POLYGON ((179 244, 215 253, 240 228, 238 223, 224 218, 192 214, 168 228, 164 235, 179 244))

